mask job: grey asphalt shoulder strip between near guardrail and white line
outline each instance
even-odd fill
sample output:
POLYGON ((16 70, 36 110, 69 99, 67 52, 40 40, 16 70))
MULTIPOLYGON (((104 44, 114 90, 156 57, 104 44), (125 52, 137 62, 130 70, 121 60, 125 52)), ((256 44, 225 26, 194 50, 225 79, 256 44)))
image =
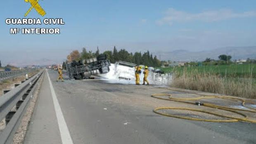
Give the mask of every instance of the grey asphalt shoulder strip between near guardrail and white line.
POLYGON ((61 144, 59 127, 47 73, 38 95, 36 108, 28 126, 24 144, 61 144))

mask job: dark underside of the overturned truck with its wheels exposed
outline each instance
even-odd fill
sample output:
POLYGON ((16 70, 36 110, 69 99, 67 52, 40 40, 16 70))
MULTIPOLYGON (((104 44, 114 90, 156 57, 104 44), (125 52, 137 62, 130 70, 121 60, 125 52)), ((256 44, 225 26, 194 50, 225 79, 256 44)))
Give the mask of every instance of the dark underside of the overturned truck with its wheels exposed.
POLYGON ((73 61, 66 66, 66 71, 70 79, 88 79, 91 75, 109 72, 110 61, 107 56, 100 54, 97 58, 73 61))

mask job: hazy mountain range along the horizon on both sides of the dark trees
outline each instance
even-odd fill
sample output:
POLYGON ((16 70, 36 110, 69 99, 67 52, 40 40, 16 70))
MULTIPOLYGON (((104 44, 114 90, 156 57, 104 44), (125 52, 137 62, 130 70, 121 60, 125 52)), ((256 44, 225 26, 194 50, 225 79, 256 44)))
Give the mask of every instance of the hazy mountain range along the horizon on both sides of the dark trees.
MULTIPOLYGON (((235 59, 256 59, 256 46, 248 47, 224 47, 213 50, 203 50, 203 51, 193 51, 193 50, 170 50, 170 51, 155 51, 156 55, 161 60, 171 60, 171 61, 204 61, 206 58, 218 59, 220 54, 231 55, 232 60, 235 59)), ((66 57, 66 56, 64 56, 66 57)), ((11 64, 13 66, 28 66, 28 65, 52 65, 52 64, 62 64, 65 59, 12 59, 6 64, 11 64)))

